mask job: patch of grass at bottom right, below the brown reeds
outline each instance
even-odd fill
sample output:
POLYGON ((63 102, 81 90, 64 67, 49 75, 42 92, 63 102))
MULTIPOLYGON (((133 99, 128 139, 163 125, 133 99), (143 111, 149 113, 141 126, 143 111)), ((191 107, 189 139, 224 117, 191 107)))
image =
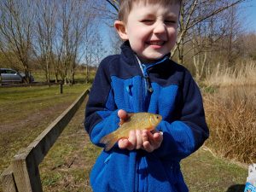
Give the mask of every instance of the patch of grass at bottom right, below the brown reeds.
POLYGON ((190 192, 242 192, 247 169, 214 156, 206 147, 182 161, 190 192))

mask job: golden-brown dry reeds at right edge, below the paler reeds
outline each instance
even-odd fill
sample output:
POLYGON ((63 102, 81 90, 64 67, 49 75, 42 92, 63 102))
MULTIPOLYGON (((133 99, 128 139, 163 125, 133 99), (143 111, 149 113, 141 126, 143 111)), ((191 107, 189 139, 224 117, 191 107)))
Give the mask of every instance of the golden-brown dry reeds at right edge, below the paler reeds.
POLYGON ((256 162, 256 86, 219 88, 205 94, 211 136, 207 146, 218 155, 256 162))

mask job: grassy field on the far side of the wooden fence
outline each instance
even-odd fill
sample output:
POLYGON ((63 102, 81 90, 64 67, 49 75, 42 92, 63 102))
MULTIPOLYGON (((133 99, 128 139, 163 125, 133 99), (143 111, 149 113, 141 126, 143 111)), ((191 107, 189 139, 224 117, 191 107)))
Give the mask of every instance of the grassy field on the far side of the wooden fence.
POLYGON ((0 173, 88 87, 84 84, 0 88, 0 173))

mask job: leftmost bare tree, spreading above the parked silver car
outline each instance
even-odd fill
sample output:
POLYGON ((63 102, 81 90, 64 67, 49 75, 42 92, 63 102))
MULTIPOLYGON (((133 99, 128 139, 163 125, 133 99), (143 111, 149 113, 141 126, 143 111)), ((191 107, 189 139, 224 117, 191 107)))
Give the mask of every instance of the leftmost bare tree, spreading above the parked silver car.
MULTIPOLYGON (((0 49, 6 57, 13 53, 20 61, 29 82, 32 58, 32 3, 30 0, 0 1, 0 49)), ((9 57, 9 61, 12 58, 9 57)))

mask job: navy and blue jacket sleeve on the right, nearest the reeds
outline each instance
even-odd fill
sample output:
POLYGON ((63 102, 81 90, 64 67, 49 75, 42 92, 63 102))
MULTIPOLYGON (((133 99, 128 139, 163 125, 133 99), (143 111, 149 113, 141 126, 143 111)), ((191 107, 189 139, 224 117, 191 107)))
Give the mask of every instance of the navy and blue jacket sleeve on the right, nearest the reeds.
POLYGON ((174 120, 163 120, 157 127, 164 138, 154 153, 163 159, 180 161, 200 148, 209 137, 201 92, 188 71, 175 113, 174 120))

